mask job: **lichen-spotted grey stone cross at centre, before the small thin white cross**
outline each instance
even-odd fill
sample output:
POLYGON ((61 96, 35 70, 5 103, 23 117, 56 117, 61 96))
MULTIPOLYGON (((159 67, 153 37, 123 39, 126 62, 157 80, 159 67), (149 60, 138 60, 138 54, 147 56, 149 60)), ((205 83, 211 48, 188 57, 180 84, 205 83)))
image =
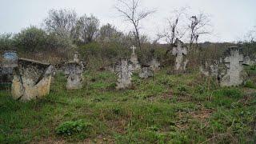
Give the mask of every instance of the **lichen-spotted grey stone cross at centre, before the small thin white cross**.
POLYGON ((116 89, 129 88, 131 83, 131 76, 134 72, 134 68, 128 58, 119 58, 115 66, 115 73, 118 75, 118 82, 116 89))

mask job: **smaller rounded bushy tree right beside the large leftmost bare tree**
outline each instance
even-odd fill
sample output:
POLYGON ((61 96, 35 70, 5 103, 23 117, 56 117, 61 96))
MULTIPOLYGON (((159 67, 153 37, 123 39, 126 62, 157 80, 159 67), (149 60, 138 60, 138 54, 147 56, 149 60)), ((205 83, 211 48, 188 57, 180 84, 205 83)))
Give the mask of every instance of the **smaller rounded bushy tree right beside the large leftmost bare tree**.
POLYGON ((78 31, 80 35, 80 39, 82 42, 89 43, 94 40, 97 36, 97 32, 99 29, 99 20, 98 18, 90 15, 87 17, 86 14, 83 15, 78 20, 78 31))

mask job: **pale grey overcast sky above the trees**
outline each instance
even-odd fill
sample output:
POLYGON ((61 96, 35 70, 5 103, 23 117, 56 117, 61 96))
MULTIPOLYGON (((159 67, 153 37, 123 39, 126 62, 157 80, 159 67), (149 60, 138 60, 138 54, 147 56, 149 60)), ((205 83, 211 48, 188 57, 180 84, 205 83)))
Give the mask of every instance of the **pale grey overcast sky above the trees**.
MULTIPOLYGON (((74 9, 78 15, 94 14, 101 24, 110 23, 119 30, 129 31, 114 5, 116 0, 0 0, 0 34, 17 33, 27 26, 42 26, 50 9, 74 9)), ((189 6, 192 13, 203 11, 211 15, 212 36, 202 38, 211 42, 234 42, 256 25, 256 0, 142 0, 142 6, 157 12, 142 23, 142 33, 154 38, 165 26, 170 13, 189 6)))

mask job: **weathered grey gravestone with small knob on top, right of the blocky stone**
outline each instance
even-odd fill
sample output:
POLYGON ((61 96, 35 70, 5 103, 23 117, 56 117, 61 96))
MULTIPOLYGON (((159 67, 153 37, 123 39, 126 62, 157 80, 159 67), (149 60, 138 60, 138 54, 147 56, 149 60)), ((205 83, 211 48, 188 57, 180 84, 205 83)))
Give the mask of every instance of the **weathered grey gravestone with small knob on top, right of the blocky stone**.
POLYGON ((74 61, 67 62, 65 66, 65 74, 67 78, 66 89, 77 90, 82 88, 84 66, 79 62, 78 55, 74 54, 74 61))

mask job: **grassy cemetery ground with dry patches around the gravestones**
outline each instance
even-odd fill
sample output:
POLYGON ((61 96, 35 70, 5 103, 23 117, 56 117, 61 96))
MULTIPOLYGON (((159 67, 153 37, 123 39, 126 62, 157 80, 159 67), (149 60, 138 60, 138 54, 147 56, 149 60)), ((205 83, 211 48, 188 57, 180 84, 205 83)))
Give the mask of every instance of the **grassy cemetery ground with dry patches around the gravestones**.
MULTIPOLYGON (((256 89, 220 88, 198 71, 154 78, 133 75, 115 90, 116 75, 86 70, 81 90, 57 74, 45 98, 18 102, 0 90, 0 143, 254 143, 256 89)), ((256 74, 256 71, 252 69, 256 74)))

